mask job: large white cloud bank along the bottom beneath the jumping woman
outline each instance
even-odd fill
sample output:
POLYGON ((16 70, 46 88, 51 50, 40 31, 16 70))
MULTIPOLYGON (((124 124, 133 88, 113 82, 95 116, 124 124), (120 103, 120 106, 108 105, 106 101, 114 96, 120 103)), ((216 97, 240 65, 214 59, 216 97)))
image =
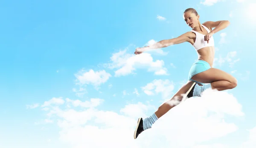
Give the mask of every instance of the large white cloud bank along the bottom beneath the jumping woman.
POLYGON ((120 148, 120 145, 122 148, 225 148, 221 144, 206 147, 201 142, 237 130, 232 119, 226 121, 226 114, 244 115, 233 95, 209 90, 201 98, 189 98, 176 106, 134 140, 137 118, 154 111, 154 107, 143 103, 128 104, 120 109, 120 114, 96 108, 52 108, 54 117, 58 118, 59 139, 71 148, 84 148, 84 145, 88 148, 120 148))

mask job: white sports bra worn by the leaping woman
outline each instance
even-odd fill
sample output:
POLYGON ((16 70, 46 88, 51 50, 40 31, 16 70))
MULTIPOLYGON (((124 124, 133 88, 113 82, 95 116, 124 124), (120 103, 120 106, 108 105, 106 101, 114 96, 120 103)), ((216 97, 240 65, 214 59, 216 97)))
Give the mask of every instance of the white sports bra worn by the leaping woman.
MULTIPOLYGON (((201 25, 207 30, 208 33, 210 32, 210 30, 207 27, 205 27, 203 24, 201 24, 201 25)), ((191 30, 191 31, 196 34, 195 43, 193 44, 196 51, 203 47, 214 46, 213 36, 210 37, 209 43, 207 43, 207 41, 204 41, 204 36, 205 36, 204 34, 200 34, 194 30, 191 30)))

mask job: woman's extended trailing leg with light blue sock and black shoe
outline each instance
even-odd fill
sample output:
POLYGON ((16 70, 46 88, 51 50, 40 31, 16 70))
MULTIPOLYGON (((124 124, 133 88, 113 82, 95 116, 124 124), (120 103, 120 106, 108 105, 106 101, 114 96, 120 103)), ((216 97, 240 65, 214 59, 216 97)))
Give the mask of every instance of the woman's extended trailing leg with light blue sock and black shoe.
POLYGON ((168 112, 173 107, 177 106, 180 101, 182 101, 183 97, 186 97, 186 94, 188 91, 195 85, 195 82, 193 81, 187 81, 186 84, 184 84, 176 93, 175 95, 169 100, 163 103, 154 114, 152 114, 150 117, 147 117, 145 119, 139 118, 137 122, 137 128, 134 131, 134 139, 138 137, 138 135, 148 129, 151 128, 151 126, 154 124, 154 122, 157 121, 158 118, 162 117, 166 112, 168 112), (185 96, 183 96, 185 95, 185 96))

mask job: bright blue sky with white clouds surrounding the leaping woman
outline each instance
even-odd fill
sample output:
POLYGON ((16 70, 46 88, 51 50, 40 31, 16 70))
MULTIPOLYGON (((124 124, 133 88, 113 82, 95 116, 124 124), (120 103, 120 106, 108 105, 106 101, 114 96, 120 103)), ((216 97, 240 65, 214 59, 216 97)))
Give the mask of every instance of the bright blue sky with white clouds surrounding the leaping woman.
MULTIPOLYGON (((195 128, 202 130, 201 136, 184 137, 190 147, 240 148, 256 135, 255 8, 252 0, 1 2, 0 147, 93 148, 101 147, 98 140, 115 147, 115 138, 127 148, 166 147, 175 135, 182 135, 163 125, 184 124, 180 122, 187 119, 188 123, 207 120, 207 129, 216 128, 215 134, 195 128), (171 98, 187 81, 197 59, 189 43, 139 56, 134 50, 190 31, 182 16, 190 7, 198 11, 201 23, 230 21, 230 26, 214 34, 214 67, 234 75, 238 86, 187 101, 133 140, 137 118, 151 115, 171 98), (214 107, 204 101, 209 96, 217 96, 214 107), (199 115, 188 115, 190 111, 199 115), (218 114, 211 120, 201 111, 218 114), (215 120, 220 121, 217 127, 215 120), (201 140, 206 134, 212 136, 201 140), (166 141, 159 142, 160 137, 166 141)), ((192 132, 184 134, 193 136, 192 132)))

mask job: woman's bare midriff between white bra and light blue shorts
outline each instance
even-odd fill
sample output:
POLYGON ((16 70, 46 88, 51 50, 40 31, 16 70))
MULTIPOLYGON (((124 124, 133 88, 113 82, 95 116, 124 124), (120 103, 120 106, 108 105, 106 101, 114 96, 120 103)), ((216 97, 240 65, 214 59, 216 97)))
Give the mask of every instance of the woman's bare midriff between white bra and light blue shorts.
POLYGON ((198 60, 207 61, 207 63, 209 63, 210 66, 212 67, 214 56, 215 56, 215 48, 213 46, 201 48, 197 50, 197 53, 198 53, 198 60))

